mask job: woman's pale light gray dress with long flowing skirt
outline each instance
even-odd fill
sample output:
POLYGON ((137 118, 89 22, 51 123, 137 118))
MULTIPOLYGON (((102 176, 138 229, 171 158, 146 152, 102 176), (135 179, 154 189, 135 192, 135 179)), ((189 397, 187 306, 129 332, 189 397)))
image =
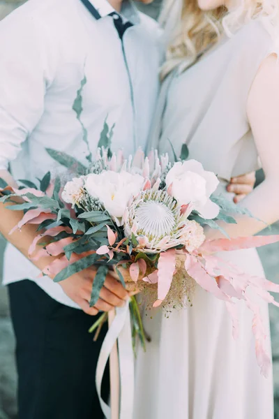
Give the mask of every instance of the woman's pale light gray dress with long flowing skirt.
MULTIPOLYGON (((275 50, 260 22, 251 22, 163 83, 151 147, 172 155, 188 144, 190 158, 225 184, 258 167, 246 117, 248 92, 262 60, 275 50)), ((250 274, 264 275, 254 249, 220 253, 250 274)), ((197 287, 193 307, 160 309, 144 318, 152 337, 136 361, 134 419, 273 419, 272 374, 260 375, 252 314, 238 304, 240 336, 224 302, 197 287), (153 318, 150 318, 152 316, 153 318)), ((268 307, 261 311, 270 350, 268 307)))

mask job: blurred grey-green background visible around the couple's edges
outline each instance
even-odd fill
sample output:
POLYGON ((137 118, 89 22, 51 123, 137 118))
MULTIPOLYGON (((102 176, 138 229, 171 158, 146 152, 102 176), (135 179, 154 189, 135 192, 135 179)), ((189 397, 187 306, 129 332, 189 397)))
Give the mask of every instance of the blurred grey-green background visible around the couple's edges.
MULTIPOLYGON (((160 1, 155 0, 152 6, 140 5, 140 8, 153 17, 156 17, 160 8, 160 1)), ((0 0, 0 20, 22 3, 24 1, 0 0)), ((259 180, 261 178, 262 175, 259 173, 259 180)), ((266 234, 270 233, 279 234, 279 223, 273 226, 272 230, 266 230, 266 234)), ((4 247, 5 242, 0 236, 0 284, 4 247)), ((259 255, 262 258, 266 276, 272 281, 279 283, 279 244, 260 249, 259 255)), ((275 419, 279 419, 279 309, 272 306, 270 308, 270 315, 275 384, 275 419)), ((15 419, 17 417, 14 350, 15 339, 9 317, 7 292, 6 288, 1 288, 0 286, 0 419, 15 419)))

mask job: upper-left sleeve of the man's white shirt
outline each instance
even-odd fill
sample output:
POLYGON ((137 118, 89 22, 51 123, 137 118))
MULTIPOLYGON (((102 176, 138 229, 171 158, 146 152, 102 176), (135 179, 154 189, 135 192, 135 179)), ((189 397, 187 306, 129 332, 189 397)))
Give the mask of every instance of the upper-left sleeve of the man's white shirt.
POLYGON ((43 115, 54 68, 50 50, 49 38, 32 16, 16 11, 0 22, 0 170, 17 157, 43 115))

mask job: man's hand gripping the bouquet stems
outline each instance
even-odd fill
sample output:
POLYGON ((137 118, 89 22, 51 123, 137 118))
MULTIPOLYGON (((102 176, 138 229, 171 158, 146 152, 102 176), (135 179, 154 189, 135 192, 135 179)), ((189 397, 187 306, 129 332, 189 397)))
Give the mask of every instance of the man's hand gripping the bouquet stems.
POLYGON ((105 279, 105 285, 100 290, 100 298, 94 307, 89 306, 91 289, 96 270, 89 268, 72 275, 59 284, 64 293, 76 302, 84 313, 96 316, 98 311, 110 311, 114 307, 123 307, 129 297, 125 288, 109 273, 105 279))

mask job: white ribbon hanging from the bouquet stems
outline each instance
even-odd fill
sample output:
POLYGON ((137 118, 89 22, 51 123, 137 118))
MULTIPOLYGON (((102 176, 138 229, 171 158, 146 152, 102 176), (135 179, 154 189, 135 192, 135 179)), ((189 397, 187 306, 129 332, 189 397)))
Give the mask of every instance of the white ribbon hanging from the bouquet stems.
POLYGON ((100 400, 100 406, 106 419, 111 418, 111 411, 110 406, 108 406, 108 404, 101 397, 101 385, 105 372, 105 366, 117 340, 120 370, 119 419, 132 419, 135 380, 129 302, 126 303, 125 307, 116 308, 116 316, 103 341, 96 368, 96 390, 100 400))

